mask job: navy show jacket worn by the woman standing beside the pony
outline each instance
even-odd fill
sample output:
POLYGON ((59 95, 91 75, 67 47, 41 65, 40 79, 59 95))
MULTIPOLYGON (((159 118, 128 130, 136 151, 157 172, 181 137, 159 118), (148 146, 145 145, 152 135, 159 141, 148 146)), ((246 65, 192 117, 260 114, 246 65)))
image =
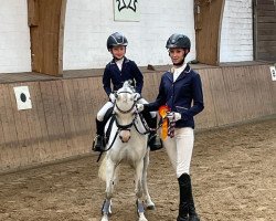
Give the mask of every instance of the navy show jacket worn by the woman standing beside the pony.
POLYGON ((156 102, 145 105, 145 110, 158 110, 168 105, 171 112, 181 114, 176 127, 194 128, 193 116, 204 108, 203 92, 200 75, 187 64, 184 71, 173 82, 173 74, 166 72, 160 82, 159 94, 156 102))

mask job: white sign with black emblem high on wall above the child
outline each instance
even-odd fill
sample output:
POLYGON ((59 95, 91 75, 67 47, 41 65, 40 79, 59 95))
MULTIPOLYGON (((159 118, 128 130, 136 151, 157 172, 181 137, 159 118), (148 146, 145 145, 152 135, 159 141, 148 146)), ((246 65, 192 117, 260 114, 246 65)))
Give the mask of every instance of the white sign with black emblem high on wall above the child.
POLYGON ((139 0, 114 0, 115 21, 139 21, 139 0))

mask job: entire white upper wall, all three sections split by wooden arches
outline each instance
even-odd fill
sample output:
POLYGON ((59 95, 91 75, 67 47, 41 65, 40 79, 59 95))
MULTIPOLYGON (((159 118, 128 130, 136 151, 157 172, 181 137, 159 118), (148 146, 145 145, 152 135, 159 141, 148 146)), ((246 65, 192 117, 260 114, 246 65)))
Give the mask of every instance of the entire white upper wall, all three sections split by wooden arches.
MULTIPOLYGON (((113 0, 67 0, 64 70, 104 67, 112 59, 106 39, 116 31, 125 33, 129 41, 127 56, 140 66, 170 63, 164 45, 177 32, 191 39, 187 61, 195 59, 193 0, 140 0, 139 3, 139 22, 118 22, 114 21, 113 0)), ((26 0, 0 0, 0 73, 30 72, 26 0)), ((221 62, 253 60, 252 27, 252 1, 225 0, 221 62)))

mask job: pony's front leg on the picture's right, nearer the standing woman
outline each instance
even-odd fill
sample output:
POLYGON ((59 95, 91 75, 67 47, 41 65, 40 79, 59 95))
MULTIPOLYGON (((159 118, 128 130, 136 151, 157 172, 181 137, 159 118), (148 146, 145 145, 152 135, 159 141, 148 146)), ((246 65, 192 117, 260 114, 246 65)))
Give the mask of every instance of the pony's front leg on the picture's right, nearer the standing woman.
POLYGON ((136 165, 136 180, 135 180, 135 192, 137 197, 137 212, 139 215, 139 221, 148 221, 144 214, 144 203, 142 203, 142 170, 144 170, 144 161, 139 161, 136 165))

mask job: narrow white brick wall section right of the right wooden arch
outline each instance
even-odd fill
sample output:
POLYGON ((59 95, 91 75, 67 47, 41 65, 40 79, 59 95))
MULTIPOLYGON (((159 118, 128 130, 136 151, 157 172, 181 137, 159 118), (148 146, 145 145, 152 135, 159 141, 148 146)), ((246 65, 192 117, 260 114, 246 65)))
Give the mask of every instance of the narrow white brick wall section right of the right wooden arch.
POLYGON ((252 1, 225 0, 220 46, 221 62, 253 61, 252 1))

